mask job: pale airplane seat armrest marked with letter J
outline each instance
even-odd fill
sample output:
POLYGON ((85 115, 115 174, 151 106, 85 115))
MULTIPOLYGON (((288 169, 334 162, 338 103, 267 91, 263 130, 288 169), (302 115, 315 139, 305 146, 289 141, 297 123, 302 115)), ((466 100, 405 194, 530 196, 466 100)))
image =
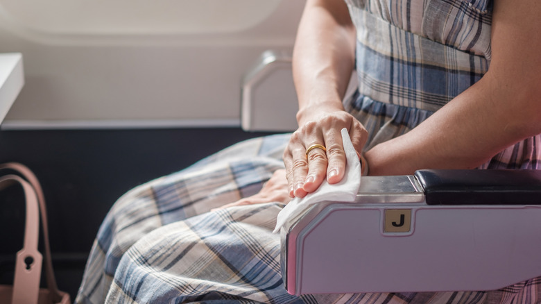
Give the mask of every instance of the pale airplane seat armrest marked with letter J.
POLYGON ((353 203, 316 204, 282 228, 286 290, 476 291, 541 276, 540 180, 506 170, 363 176, 353 203))

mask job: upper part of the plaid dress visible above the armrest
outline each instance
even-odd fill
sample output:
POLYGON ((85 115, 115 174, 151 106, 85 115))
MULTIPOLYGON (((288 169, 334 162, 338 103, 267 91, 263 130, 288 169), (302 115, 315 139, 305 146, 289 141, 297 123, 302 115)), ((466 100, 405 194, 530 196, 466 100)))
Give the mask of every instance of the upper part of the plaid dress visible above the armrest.
MULTIPOLYGON (((411 130, 490 65, 491 0, 346 0, 357 28, 359 90, 345 103, 370 132, 365 149, 411 130)), ((540 169, 541 135, 480 169, 540 169)))

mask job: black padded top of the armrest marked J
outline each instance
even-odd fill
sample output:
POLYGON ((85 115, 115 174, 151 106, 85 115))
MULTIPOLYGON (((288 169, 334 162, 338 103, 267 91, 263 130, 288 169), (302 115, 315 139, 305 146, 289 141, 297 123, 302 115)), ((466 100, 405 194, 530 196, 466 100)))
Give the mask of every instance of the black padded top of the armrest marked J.
POLYGON ((541 170, 419 170, 429 205, 541 205, 541 170))

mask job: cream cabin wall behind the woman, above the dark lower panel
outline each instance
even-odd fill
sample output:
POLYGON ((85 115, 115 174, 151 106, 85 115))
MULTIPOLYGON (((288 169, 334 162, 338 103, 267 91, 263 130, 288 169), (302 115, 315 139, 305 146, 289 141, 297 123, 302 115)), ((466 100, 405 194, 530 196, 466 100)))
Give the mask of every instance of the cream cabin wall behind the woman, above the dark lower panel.
POLYGON ((0 0, 0 52, 22 52, 26 74, 3 128, 237 126, 243 75, 291 51, 303 6, 0 0))

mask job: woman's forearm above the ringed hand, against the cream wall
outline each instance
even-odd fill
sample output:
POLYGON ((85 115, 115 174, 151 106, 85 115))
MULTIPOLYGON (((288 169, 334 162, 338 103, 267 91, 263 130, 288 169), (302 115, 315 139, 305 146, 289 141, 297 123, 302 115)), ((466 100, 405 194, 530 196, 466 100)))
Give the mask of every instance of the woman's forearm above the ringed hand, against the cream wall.
POLYGON ((354 68, 355 30, 343 1, 308 1, 293 50, 299 125, 316 111, 342 110, 354 68))

